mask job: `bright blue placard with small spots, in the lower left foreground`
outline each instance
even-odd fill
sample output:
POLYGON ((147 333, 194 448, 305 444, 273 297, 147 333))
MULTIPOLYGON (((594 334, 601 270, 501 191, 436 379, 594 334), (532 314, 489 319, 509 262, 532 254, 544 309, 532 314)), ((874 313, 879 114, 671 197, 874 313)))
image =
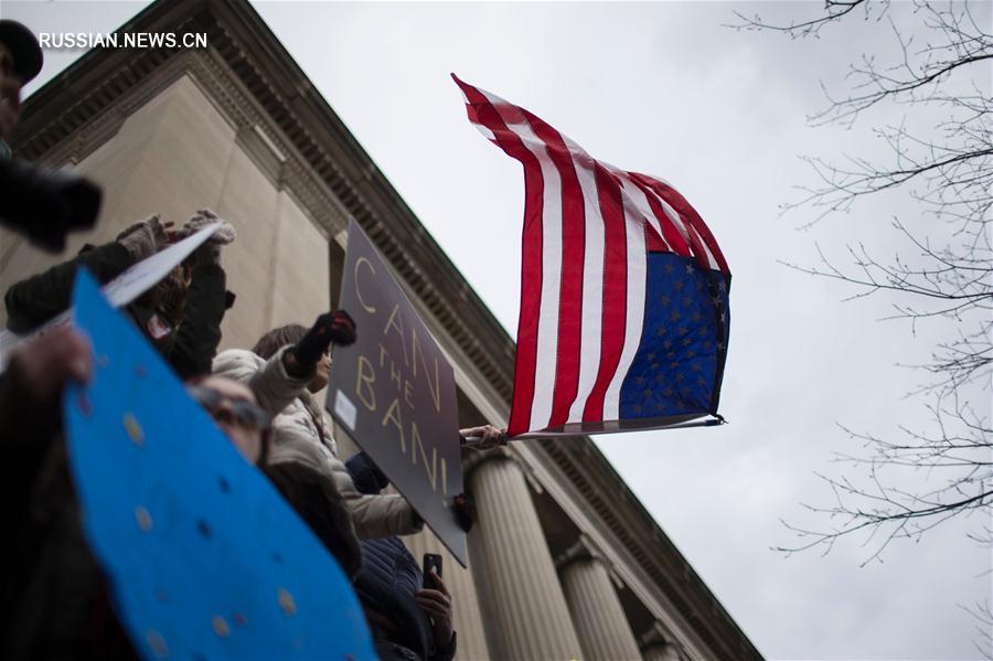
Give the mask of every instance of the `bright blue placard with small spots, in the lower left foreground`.
POLYGON ((324 546, 79 269, 94 379, 63 399, 84 529, 147 659, 375 659, 324 546))

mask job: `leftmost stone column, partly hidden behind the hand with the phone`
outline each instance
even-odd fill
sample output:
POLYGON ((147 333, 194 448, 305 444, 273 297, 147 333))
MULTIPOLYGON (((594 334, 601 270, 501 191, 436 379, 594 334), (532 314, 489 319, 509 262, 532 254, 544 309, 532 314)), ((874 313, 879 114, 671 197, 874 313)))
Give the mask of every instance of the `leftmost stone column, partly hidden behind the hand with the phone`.
MULTIPOLYGON (((471 534, 474 535, 477 532, 473 530, 471 534)), ((421 562, 425 553, 441 554, 441 579, 451 594, 452 619, 458 640, 456 660, 492 658, 487 647, 487 632, 479 610, 479 596, 476 593, 476 584, 470 572, 473 568, 474 558, 469 558, 470 569, 463 569, 459 561, 445 547, 445 544, 427 527, 420 534, 401 539, 418 563, 421 562)))

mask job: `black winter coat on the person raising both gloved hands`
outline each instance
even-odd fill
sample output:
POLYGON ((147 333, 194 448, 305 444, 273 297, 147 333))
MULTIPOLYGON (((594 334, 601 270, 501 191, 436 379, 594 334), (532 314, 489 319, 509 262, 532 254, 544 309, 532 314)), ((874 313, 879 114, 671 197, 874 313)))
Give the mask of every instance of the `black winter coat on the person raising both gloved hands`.
MULTIPOLYGON (((83 265, 103 285, 135 263, 127 248, 111 242, 81 253, 74 259, 14 282, 3 297, 7 327, 25 333, 68 309, 76 277, 83 265)), ((193 267, 186 290, 183 320, 175 328, 139 302, 128 306, 135 323, 156 347, 180 379, 207 374, 221 342, 221 320, 227 308, 225 274, 216 264, 193 267)), ((140 300, 140 299, 139 299, 140 300)))

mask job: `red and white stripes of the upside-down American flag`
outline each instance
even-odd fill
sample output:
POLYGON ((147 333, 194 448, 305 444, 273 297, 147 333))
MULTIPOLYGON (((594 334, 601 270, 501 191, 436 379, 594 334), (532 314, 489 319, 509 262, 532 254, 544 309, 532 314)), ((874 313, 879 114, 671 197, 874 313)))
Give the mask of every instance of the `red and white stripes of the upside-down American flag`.
POLYGON ((463 83, 469 119, 524 166, 521 314, 510 435, 616 420, 641 340, 648 249, 727 264, 700 214, 527 110, 463 83), (647 245, 647 239, 649 245, 647 245))

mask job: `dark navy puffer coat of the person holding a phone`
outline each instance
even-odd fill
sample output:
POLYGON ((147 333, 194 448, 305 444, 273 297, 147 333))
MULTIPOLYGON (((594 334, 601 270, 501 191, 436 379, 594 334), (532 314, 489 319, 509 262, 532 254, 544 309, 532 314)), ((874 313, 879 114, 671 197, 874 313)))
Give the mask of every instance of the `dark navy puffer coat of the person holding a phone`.
MULTIPOLYGON (((346 467, 363 493, 378 493, 388 483, 364 452, 349 459, 346 467)), ((423 584, 417 561, 398 537, 362 542, 362 571, 352 585, 362 606, 391 623, 388 635, 374 632, 375 638, 401 644, 426 661, 450 661, 455 635, 446 647, 437 648, 431 622, 414 599, 423 584)))

